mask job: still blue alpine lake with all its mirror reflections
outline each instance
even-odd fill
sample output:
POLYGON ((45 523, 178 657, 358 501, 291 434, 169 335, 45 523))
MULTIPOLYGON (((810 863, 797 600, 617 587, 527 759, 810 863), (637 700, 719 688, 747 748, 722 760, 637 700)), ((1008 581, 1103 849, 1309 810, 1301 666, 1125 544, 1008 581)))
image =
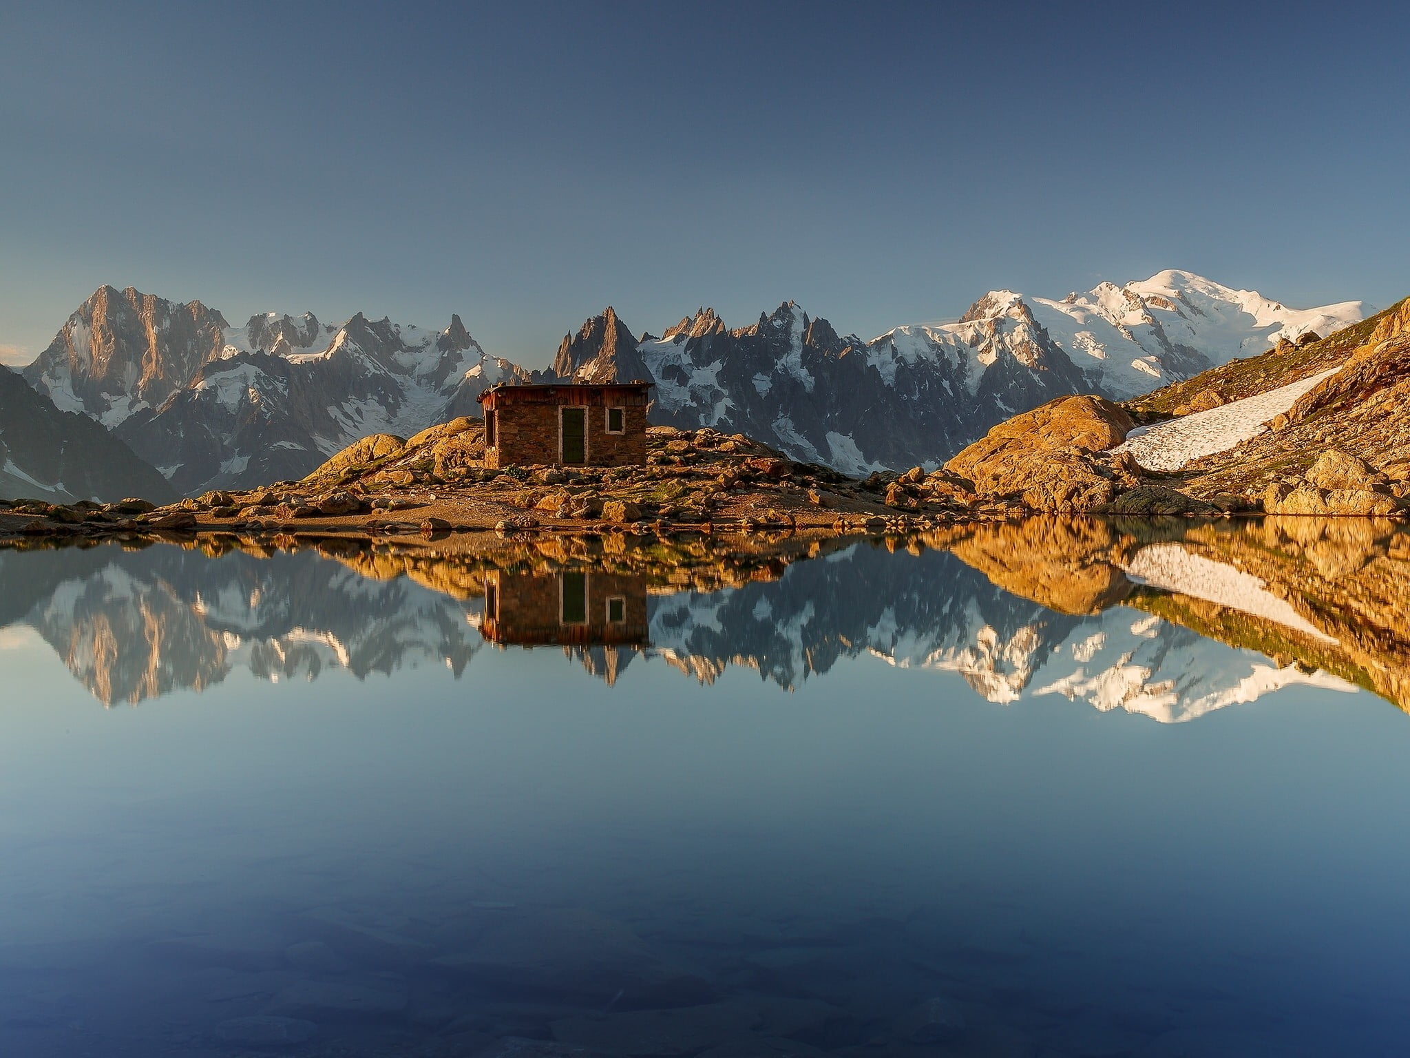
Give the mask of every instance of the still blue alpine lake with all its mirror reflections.
POLYGON ((0 550, 0 1054, 1410 1051, 1410 530, 0 550))

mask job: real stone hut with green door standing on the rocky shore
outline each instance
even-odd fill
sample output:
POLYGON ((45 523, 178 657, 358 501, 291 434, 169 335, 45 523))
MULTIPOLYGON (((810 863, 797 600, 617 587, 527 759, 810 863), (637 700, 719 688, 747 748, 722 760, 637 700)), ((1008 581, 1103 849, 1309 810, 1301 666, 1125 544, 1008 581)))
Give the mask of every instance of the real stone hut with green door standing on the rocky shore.
POLYGON ((646 463, 651 382, 496 385, 485 408, 485 466, 646 463))

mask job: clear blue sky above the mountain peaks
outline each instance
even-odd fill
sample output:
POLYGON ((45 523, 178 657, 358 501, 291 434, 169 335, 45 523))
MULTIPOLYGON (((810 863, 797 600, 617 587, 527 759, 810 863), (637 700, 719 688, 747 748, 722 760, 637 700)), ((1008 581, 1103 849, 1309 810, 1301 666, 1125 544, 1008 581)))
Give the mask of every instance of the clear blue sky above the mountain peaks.
POLYGON ((1397 4, 0 0, 0 346, 99 284, 539 365, 792 298, 863 337, 1189 268, 1410 293, 1397 4))

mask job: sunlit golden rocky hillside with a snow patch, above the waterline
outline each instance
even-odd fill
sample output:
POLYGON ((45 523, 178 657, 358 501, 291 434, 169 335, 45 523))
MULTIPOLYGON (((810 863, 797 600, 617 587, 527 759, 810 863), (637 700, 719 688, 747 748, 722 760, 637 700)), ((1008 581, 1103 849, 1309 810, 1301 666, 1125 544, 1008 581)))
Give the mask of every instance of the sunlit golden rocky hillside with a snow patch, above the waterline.
POLYGON ((1399 515, 1410 501, 1407 408, 1410 299, 1125 406, 1053 402, 945 470, 1015 511, 1399 515))

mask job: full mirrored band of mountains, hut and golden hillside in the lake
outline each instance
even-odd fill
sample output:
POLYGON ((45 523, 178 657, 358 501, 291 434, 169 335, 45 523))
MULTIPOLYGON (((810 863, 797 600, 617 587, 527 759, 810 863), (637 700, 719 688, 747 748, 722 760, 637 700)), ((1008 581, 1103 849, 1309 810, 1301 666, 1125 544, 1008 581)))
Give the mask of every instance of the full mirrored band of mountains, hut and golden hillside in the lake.
POLYGON ((402 570, 310 550, 0 552, 0 626, 37 628, 104 703, 234 669, 281 680, 433 663, 460 676, 486 638, 560 645, 609 681, 660 656, 704 683, 735 664, 791 688, 866 653, 959 673, 995 703, 1062 694, 1166 722, 1290 683, 1351 680, 1404 701, 1404 536, 1286 521, 979 526, 911 553, 857 543, 776 563, 713 591, 642 568, 564 574, 541 553, 532 573, 516 556, 506 580, 464 560, 402 570))

